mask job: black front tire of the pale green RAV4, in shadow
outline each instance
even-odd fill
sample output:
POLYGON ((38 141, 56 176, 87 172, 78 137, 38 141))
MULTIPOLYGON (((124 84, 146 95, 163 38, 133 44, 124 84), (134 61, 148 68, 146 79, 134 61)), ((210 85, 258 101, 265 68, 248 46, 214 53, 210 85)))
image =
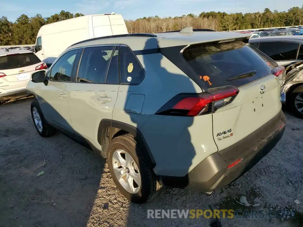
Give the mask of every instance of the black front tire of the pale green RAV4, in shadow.
POLYGON ((37 100, 32 101, 31 114, 32 114, 32 120, 33 120, 34 126, 35 126, 35 128, 36 128, 36 130, 37 130, 37 132, 40 136, 50 137, 50 136, 55 135, 55 133, 56 133, 55 128, 50 126, 46 122, 37 100), (41 124, 39 124, 40 125, 39 128, 38 128, 38 126, 36 124, 36 121, 35 121, 35 119, 37 120, 37 115, 35 115, 35 117, 34 117, 35 113, 38 113, 38 117, 40 117, 40 123, 41 124))

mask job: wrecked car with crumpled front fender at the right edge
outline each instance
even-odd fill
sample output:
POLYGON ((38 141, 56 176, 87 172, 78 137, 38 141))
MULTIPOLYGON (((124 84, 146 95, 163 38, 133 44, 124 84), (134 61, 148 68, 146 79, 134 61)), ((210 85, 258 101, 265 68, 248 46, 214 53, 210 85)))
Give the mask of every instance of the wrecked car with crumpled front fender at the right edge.
POLYGON ((250 39, 249 43, 285 68, 281 102, 303 119, 303 36, 270 36, 250 39))

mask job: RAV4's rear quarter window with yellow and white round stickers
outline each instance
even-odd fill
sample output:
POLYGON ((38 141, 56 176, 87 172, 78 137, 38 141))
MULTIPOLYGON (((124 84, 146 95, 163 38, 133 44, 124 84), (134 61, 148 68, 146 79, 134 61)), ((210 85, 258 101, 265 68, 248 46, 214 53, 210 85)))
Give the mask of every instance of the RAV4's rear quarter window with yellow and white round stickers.
POLYGON ((145 76, 138 58, 128 47, 120 48, 120 83, 139 84, 145 76))

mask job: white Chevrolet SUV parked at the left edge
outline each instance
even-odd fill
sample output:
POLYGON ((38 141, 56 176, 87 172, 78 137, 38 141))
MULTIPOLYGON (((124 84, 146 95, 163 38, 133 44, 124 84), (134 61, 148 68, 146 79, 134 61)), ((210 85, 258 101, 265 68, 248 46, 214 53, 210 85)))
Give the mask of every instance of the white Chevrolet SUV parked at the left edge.
POLYGON ((0 102, 26 96, 31 73, 46 68, 32 51, 0 50, 0 102))

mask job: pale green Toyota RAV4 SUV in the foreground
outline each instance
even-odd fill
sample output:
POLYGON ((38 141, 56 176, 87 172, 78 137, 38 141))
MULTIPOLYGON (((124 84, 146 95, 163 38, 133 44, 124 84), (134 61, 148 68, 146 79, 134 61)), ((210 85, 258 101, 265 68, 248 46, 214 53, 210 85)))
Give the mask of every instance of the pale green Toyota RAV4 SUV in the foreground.
POLYGON ((73 44, 31 75, 35 128, 100 152, 132 202, 161 186, 210 195, 254 166, 285 129, 281 68, 249 37, 188 27, 73 44))

